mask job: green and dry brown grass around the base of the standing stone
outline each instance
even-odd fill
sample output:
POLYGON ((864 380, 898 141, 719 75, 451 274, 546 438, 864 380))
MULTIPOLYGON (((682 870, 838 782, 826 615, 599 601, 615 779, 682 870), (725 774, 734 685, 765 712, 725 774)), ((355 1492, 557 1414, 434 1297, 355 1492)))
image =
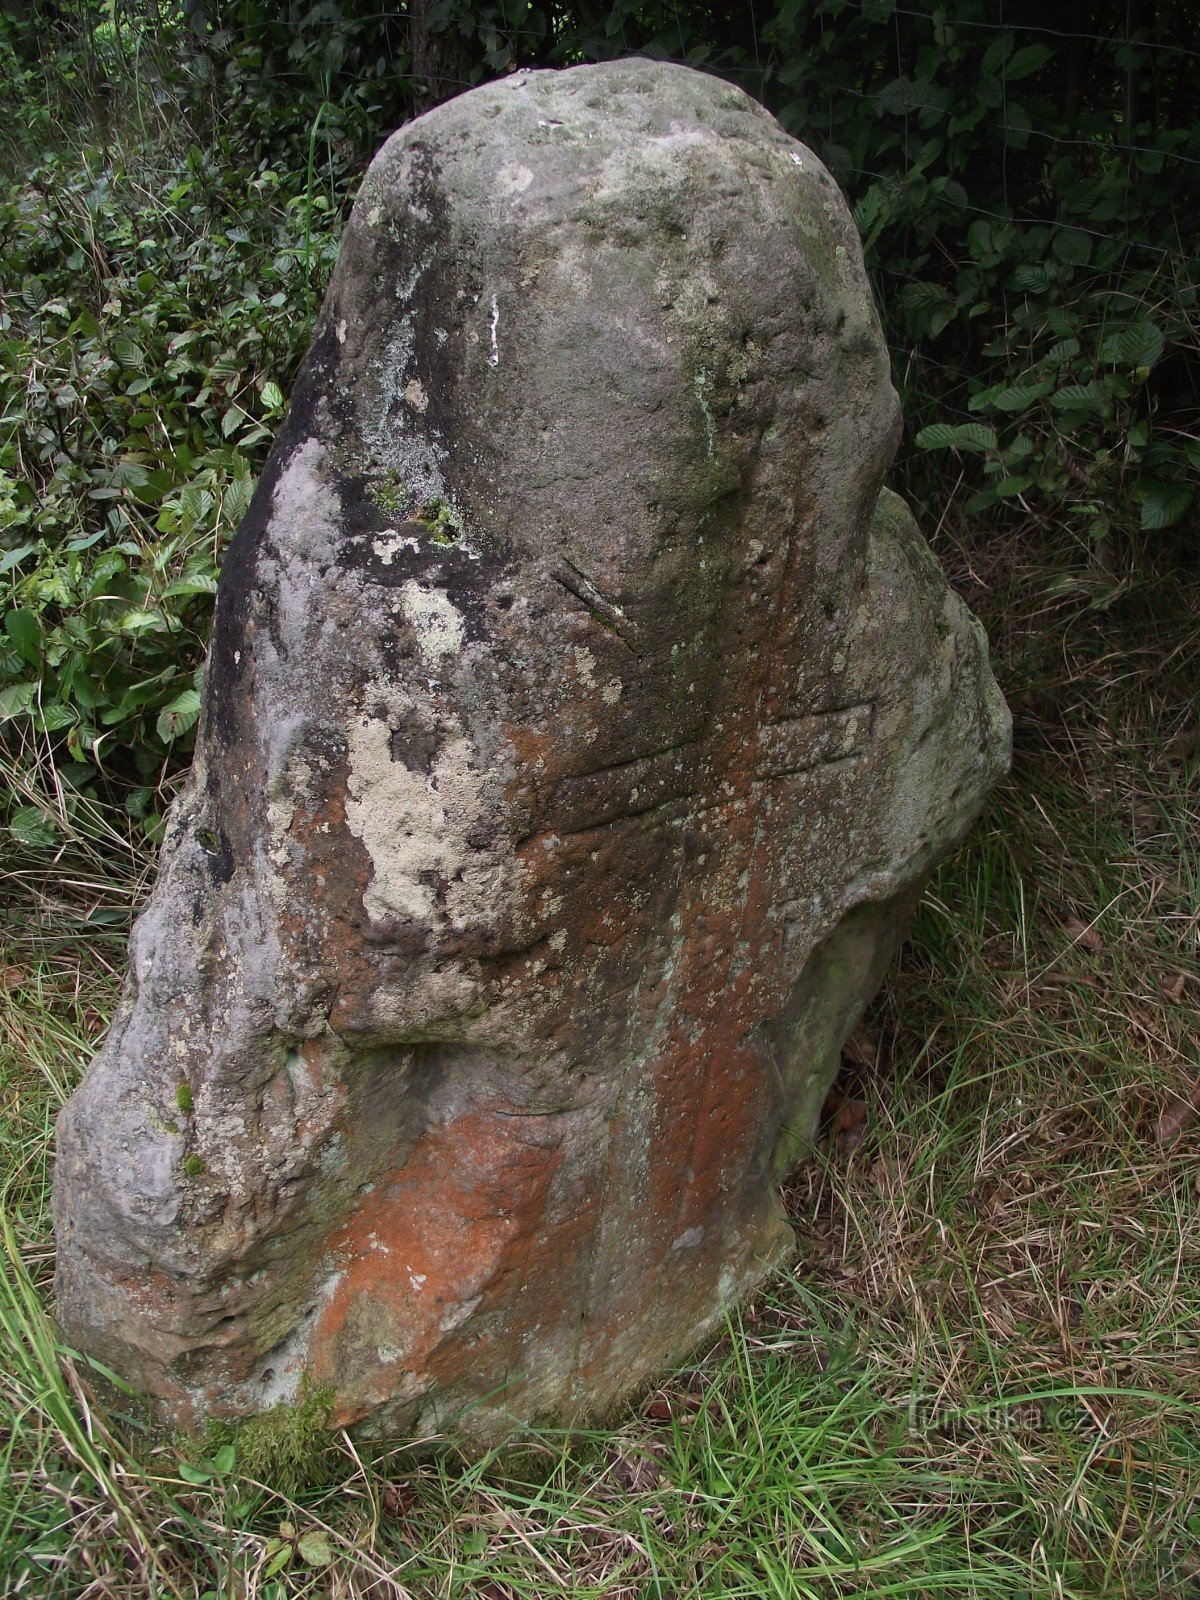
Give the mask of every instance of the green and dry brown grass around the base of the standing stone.
POLYGON ((278 1419, 238 1454, 99 1405, 45 1310, 46 1152, 134 862, 78 830, 8 864, 2 1592, 1200 1592, 1200 1141, 1170 1126, 1200 1074, 1200 584, 1146 555, 1064 590, 1035 549, 992 549, 986 584, 978 550, 941 552, 992 624, 1016 766, 851 1040, 787 1190, 802 1258, 605 1429, 464 1459, 278 1419))

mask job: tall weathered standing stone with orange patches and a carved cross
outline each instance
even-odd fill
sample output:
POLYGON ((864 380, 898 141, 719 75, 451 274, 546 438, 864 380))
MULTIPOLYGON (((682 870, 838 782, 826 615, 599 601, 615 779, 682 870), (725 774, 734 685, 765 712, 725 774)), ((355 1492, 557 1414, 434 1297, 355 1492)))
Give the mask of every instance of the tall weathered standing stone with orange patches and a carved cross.
POLYGON ((371 166, 59 1123, 67 1336, 182 1421, 595 1413, 776 1182, 1006 762, 880 490, 851 218, 728 85, 520 74, 371 166))

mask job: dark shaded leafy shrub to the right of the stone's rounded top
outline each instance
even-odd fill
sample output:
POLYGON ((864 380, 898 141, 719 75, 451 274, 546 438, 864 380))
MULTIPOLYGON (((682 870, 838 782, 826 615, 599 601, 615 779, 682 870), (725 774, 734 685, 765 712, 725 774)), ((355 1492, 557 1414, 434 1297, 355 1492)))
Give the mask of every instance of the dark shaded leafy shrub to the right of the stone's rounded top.
POLYGON ((909 434, 958 454, 909 461, 928 499, 962 470, 970 515, 1106 541, 1194 504, 1187 14, 811 0, 765 22, 766 98, 854 200, 909 434))

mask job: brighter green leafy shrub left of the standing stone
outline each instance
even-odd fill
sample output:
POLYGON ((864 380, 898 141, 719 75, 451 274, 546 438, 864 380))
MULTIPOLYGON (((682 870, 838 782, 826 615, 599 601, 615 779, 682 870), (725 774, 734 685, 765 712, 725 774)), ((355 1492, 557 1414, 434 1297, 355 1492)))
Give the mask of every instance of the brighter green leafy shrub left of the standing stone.
POLYGON ((69 795, 104 779, 150 832, 334 221, 229 142, 59 152, 0 194, 0 738, 53 741, 69 795))

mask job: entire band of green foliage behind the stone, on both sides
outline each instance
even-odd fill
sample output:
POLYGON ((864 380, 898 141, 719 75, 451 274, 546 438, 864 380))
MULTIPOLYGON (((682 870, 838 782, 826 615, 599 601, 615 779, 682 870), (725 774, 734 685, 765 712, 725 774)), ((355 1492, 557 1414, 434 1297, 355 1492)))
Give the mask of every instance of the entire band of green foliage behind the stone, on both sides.
MULTIPOLYGON (((862 230, 904 486, 1070 522, 1122 579, 1195 518, 1200 74, 1190 0, 763 6, 40 3, 0 21, 0 744, 150 835, 186 758, 221 550, 363 162, 515 66, 630 51, 741 82, 862 230)), ((58 822, 56 822, 58 816, 58 822)))

